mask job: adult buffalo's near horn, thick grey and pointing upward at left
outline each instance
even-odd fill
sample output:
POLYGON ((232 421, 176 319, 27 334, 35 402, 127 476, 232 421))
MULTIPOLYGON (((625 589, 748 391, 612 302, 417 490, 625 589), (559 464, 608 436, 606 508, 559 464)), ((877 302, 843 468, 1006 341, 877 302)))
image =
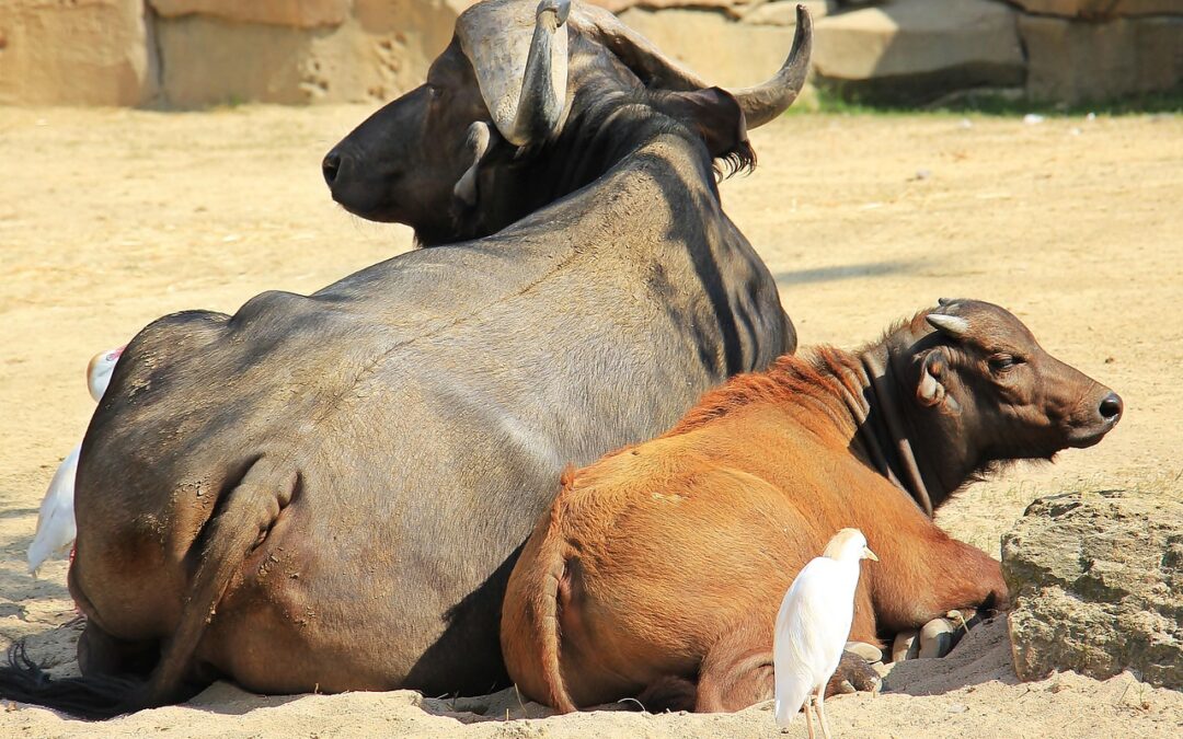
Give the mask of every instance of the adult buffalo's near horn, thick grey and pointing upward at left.
POLYGON ((531 13, 519 1, 492 0, 457 20, 457 35, 485 106, 502 137, 513 145, 545 138, 562 122, 567 33, 556 32, 570 8, 570 0, 542 0, 531 13))

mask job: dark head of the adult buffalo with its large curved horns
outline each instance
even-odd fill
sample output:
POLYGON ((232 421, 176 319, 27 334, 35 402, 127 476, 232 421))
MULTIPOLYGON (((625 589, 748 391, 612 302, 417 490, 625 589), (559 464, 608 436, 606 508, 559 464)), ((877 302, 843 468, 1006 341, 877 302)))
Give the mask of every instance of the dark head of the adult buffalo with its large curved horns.
MULTIPOLYGON (((809 41, 809 17, 799 7, 796 39, 781 71, 763 85, 729 93, 581 0, 486 0, 457 20, 455 37, 426 84, 329 151, 324 179, 349 212, 407 223, 422 244, 485 235, 586 184, 564 181, 538 195, 538 180, 548 173, 496 176, 521 170, 530 157, 560 158, 562 153, 542 149, 581 105, 660 92, 665 115, 702 134, 713 156, 733 156, 737 145, 746 147, 745 127, 771 121, 796 98, 809 41), (526 186, 534 188, 529 196, 513 192, 526 186)), ((596 135, 582 131, 578 141, 596 135)))

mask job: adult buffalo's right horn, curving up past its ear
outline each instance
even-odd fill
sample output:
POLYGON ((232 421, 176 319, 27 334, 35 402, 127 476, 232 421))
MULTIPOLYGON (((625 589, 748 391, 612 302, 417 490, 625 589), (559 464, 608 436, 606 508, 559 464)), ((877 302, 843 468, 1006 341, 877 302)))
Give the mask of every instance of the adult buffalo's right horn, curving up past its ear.
MULTIPOLYGON (((593 32, 647 86, 674 91, 704 90, 711 86, 694 72, 666 57, 652 41, 607 11, 581 5, 576 22, 593 32)), ((762 85, 729 90, 738 101, 748 128, 768 123, 797 99, 806 83, 812 53, 813 19, 808 8, 799 5, 793 48, 789 50, 789 56, 776 76, 762 85)))

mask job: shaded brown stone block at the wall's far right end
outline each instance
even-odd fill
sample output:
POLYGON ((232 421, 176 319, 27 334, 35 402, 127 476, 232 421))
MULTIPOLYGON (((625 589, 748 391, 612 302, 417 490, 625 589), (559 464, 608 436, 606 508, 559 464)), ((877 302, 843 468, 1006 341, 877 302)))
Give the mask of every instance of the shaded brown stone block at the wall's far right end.
POLYGON ((1033 99, 1106 101, 1183 83, 1183 17, 1091 24, 1022 15, 1019 32, 1033 99))

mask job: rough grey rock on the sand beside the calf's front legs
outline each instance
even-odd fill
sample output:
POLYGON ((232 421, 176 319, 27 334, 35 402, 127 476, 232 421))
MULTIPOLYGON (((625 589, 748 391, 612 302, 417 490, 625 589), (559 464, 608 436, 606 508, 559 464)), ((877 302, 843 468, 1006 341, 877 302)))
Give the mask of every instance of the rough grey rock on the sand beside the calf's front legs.
POLYGON ((1129 492, 1036 500, 1002 539, 1015 672, 1183 689, 1183 503, 1129 492))

